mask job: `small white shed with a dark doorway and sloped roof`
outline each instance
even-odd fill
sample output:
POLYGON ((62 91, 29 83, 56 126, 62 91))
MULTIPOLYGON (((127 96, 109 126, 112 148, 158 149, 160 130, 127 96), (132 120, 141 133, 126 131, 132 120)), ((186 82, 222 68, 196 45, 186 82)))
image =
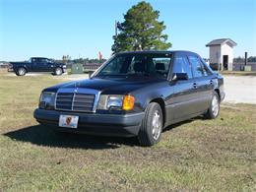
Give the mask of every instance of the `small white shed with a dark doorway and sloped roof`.
POLYGON ((219 70, 232 71, 233 68, 233 47, 236 42, 230 38, 215 39, 206 44, 209 47, 210 65, 217 64, 219 70))

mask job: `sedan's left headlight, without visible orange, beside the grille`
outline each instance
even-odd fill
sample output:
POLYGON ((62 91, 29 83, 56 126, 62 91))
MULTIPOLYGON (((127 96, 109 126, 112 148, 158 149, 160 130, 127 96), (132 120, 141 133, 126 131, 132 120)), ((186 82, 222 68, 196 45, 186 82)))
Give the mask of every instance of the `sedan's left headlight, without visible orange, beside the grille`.
POLYGON ((39 100, 39 108, 43 109, 54 109, 56 93, 43 92, 41 93, 39 100))

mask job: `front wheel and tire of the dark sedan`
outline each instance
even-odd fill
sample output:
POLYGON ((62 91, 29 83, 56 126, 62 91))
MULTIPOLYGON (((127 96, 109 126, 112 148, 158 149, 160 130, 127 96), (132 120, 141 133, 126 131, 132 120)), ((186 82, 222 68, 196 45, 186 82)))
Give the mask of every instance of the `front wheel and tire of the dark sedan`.
POLYGON ((160 142, 162 111, 160 104, 151 102, 146 108, 138 139, 141 146, 150 147, 160 142))

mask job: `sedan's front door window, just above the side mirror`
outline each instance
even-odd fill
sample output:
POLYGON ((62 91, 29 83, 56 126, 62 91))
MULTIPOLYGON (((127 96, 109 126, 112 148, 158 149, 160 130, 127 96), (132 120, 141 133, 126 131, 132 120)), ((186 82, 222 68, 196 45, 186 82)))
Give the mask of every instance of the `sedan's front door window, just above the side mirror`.
POLYGON ((188 79, 192 78, 191 67, 186 57, 176 56, 174 58, 174 66, 173 66, 172 73, 187 73, 188 79))

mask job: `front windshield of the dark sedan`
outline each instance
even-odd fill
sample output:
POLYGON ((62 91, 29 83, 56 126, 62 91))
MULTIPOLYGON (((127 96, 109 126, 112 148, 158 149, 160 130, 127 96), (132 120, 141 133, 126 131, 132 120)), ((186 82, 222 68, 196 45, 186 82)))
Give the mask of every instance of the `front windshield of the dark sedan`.
POLYGON ((107 62, 96 76, 148 75, 167 78, 170 53, 120 54, 107 62))

